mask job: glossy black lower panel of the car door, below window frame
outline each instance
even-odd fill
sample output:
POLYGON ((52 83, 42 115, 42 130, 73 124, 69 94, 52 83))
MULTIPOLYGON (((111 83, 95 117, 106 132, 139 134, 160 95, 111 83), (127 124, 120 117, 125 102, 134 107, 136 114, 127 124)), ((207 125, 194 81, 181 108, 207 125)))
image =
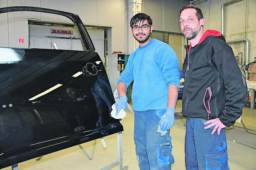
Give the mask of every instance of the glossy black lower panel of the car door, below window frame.
POLYGON ((123 130, 95 52, 0 48, 0 77, 0 168, 123 130))

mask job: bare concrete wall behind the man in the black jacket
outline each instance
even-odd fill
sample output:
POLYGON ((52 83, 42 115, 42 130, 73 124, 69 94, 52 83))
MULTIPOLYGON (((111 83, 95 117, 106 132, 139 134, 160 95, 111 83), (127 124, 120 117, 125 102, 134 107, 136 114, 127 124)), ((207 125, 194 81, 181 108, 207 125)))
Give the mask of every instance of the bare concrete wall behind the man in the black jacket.
MULTIPOLYGON (((208 0, 196 5, 204 15, 204 31, 215 29, 221 32, 221 6, 228 0, 208 0)), ((224 35, 226 41, 247 38, 249 40, 249 62, 256 56, 256 0, 241 0, 224 8, 224 35)), ((244 44, 231 44, 235 56, 244 51, 244 44)))

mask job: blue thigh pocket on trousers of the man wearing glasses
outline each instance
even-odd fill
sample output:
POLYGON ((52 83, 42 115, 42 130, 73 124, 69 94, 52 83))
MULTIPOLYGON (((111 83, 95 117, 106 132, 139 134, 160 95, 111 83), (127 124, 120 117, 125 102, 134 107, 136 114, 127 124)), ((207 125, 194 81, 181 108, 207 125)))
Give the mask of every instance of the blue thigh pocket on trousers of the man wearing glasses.
POLYGON ((171 154, 173 149, 171 137, 167 137, 167 141, 159 141, 157 144, 157 161, 158 167, 166 166, 174 163, 174 157, 171 154))

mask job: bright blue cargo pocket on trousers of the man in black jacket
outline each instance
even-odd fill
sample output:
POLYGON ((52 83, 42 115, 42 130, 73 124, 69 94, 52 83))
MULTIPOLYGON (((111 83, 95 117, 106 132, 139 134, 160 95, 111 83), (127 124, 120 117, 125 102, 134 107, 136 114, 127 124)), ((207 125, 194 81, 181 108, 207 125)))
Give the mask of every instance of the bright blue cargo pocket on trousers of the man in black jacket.
POLYGON ((223 146, 217 146, 217 151, 204 152, 206 170, 221 170, 221 166, 228 166, 228 153, 226 150, 226 141, 223 146))

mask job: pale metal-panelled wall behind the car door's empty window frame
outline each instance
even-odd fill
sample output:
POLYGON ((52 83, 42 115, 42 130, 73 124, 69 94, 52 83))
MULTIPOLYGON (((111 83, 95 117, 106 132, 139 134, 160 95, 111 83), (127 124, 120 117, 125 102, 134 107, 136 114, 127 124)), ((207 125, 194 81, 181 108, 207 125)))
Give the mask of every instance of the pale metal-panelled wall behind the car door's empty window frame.
MULTIPOLYGON (((0 7, 9 6, 35 6, 67 11, 78 14, 86 25, 110 26, 112 27, 112 50, 125 51, 125 0, 0 0, 0 7)), ((28 18, 70 22, 64 16, 47 13, 1 14, 0 46, 28 48, 28 18), (19 44, 19 38, 24 38, 25 43, 19 44)))

